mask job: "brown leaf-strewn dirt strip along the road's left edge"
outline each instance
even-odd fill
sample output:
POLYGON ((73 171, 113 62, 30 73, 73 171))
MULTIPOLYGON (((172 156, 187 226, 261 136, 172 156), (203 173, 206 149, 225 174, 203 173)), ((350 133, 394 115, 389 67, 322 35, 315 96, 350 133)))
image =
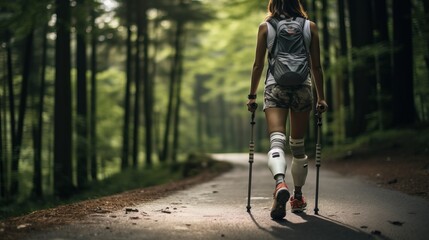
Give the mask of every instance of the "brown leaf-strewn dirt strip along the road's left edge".
MULTIPOLYGON (((225 169, 227 170, 227 169, 225 169)), ((91 214, 109 213, 148 201, 166 197, 176 191, 209 181, 221 172, 204 171, 198 176, 154 187, 136 189, 120 194, 91 199, 0 221, 2 240, 18 240, 31 232, 78 221, 91 214)))

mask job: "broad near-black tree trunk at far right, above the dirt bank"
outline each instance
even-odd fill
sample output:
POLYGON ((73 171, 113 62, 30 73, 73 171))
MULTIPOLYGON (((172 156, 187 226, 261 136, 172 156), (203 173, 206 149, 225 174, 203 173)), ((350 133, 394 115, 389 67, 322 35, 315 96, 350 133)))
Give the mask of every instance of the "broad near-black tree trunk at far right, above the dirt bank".
POLYGON ((393 0, 393 126, 416 120, 413 83, 413 32, 411 0, 393 0))

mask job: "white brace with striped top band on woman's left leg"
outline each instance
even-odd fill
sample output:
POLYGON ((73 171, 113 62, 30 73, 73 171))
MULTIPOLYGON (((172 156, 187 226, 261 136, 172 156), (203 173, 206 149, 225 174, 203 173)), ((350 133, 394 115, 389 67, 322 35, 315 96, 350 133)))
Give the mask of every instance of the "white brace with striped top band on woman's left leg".
POLYGON ((286 135, 282 132, 273 132, 270 134, 270 151, 268 152, 268 168, 273 177, 277 174, 286 173, 286 158, 284 146, 286 143, 286 135))

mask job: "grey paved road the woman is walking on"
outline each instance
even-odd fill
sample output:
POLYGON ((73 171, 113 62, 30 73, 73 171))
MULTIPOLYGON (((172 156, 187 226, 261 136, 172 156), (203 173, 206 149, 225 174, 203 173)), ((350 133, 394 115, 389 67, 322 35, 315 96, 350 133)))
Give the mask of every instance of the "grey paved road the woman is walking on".
MULTIPOLYGON (((321 167, 319 215, 315 215, 314 162, 305 186, 306 213, 288 205, 283 221, 270 218, 274 182, 264 154, 255 156, 251 213, 246 211, 247 154, 218 154, 235 168, 166 198, 73 225, 35 233, 28 239, 429 239, 429 202, 386 190, 321 167)), ((290 164, 289 164, 290 166, 290 164)), ((287 183, 292 183, 288 169, 287 183)))

